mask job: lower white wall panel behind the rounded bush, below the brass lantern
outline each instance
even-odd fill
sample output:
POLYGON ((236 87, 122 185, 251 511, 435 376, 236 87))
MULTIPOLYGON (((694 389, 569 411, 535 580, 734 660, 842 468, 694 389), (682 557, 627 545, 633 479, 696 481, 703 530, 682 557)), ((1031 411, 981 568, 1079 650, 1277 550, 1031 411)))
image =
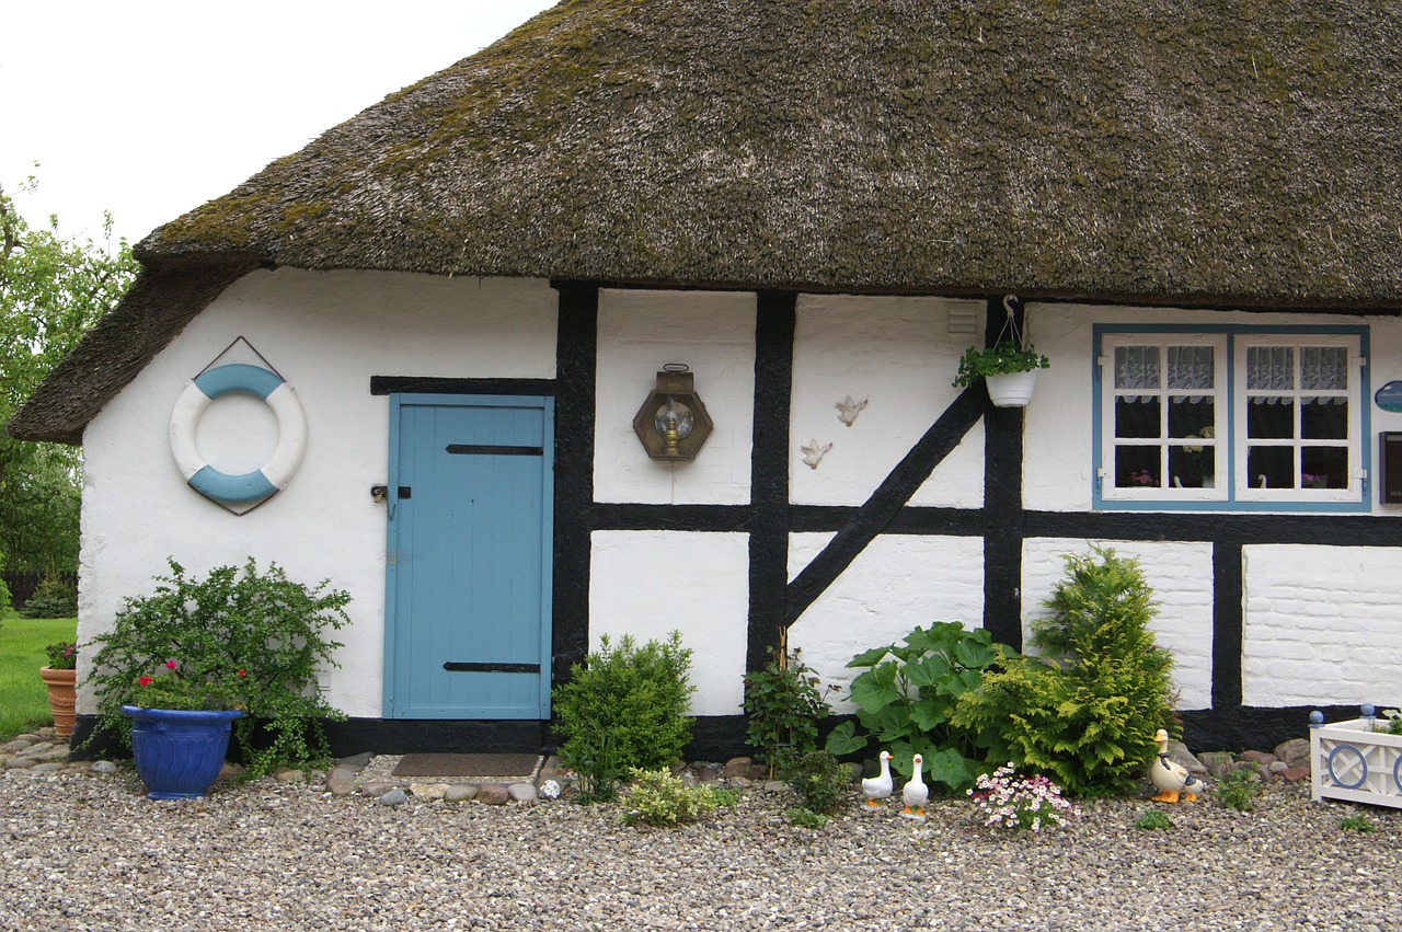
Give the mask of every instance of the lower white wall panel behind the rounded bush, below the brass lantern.
POLYGON ((594 531, 589 649, 600 635, 638 643, 681 632, 690 647, 693 715, 740 715, 749 649, 747 534, 594 531))

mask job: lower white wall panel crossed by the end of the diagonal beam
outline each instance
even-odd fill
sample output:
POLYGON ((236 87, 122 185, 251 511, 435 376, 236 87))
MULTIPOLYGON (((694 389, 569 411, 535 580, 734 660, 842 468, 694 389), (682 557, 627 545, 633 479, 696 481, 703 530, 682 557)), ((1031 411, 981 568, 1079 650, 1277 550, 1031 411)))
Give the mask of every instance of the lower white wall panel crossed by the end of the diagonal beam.
MULTIPOLYGON (((789 537, 789 577, 831 540, 830 534, 789 537)), ((959 621, 983 626, 983 538, 883 534, 789 628, 789 649, 823 684, 840 687, 838 713, 852 677, 847 662, 869 647, 896 643, 916 625, 959 621)))

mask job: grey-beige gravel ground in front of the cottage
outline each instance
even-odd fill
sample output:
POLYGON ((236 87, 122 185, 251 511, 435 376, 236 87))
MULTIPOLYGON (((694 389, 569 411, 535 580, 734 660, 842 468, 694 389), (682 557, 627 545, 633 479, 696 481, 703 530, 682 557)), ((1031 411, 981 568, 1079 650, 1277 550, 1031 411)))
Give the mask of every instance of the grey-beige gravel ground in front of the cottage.
POLYGON ((1252 813, 1095 802, 1040 835, 945 800, 913 823, 850 809, 813 831, 785 793, 681 828, 613 806, 336 797, 220 785, 147 800, 116 775, 0 776, 3 929, 1395 929, 1402 813, 1272 786, 1252 813))

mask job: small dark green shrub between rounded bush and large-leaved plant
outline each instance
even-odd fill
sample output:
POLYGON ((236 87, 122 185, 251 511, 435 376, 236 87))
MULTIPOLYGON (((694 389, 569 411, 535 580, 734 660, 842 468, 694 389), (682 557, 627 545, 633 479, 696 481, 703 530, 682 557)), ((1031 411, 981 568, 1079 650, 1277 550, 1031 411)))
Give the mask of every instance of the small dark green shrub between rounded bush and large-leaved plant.
POLYGON ((817 747, 817 723, 831 713, 817 674, 799 660, 798 650, 777 649, 764 667, 744 676, 744 740, 770 765, 771 776, 788 758, 817 747))

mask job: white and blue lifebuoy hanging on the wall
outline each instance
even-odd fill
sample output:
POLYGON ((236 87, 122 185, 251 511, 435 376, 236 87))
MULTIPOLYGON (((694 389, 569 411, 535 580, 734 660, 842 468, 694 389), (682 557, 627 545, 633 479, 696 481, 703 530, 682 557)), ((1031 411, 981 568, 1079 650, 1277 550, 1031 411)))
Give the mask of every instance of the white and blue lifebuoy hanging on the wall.
POLYGON ((233 363, 210 369, 185 385, 171 412, 171 453, 192 489, 220 505, 261 502, 287 485, 307 450, 307 418, 292 385, 275 371, 233 363), (216 398, 243 392, 261 398, 278 416, 278 447, 261 468, 243 475, 220 472, 195 446, 195 427, 216 398))

